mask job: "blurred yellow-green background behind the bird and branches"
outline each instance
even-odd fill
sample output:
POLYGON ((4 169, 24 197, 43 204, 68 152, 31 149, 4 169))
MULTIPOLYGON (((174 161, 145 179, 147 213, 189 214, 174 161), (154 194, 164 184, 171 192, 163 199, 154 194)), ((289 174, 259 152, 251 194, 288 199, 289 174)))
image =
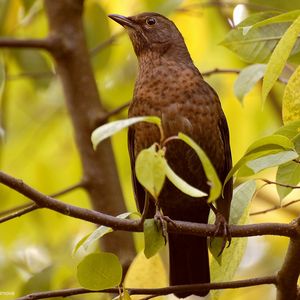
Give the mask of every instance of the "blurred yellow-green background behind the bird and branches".
MULTIPOLYGON (((215 68, 241 69, 245 64, 220 46, 230 30, 234 2, 222 1, 109 1, 86 0, 84 22, 90 49, 121 31, 108 19, 110 13, 133 15, 157 11, 170 17, 182 32, 191 56, 201 72, 215 68), (226 2, 228 3, 228 2, 226 2)), ((260 5, 290 10, 300 8, 299 1, 248 1, 253 11, 260 5)), ((235 1, 236 4, 239 1, 235 1)), ((41 0, 0 1, 0 34, 5 37, 42 38, 48 26, 41 0)), ((92 56, 92 63, 103 101, 112 110, 131 99, 136 77, 136 57, 129 38, 118 37, 92 56)), ((236 162, 255 139, 272 133, 281 121, 280 99, 283 85, 276 84, 266 105, 261 107, 260 84, 241 104, 233 93, 235 74, 215 74, 206 80, 218 92, 231 133, 233 161, 236 162)), ((81 164, 73 141, 73 132, 64 104, 59 79, 54 75, 51 57, 42 51, 0 51, 0 125, 1 169, 46 194, 60 191, 81 178, 81 164), (4 78, 5 77, 5 78, 4 78)), ((126 111, 116 118, 125 118, 126 111)), ((131 190, 126 132, 113 137, 123 192, 129 211, 135 211, 131 190)), ((274 179, 273 172, 265 172, 274 179)), ((288 199, 299 198, 293 192, 288 199)), ((87 196, 76 190, 60 198, 67 203, 90 207, 87 196)), ((266 187, 253 200, 251 211, 259 211, 278 203, 274 187, 266 187)), ((28 203, 16 192, 0 186, 0 214, 28 203)), ((251 217, 257 222, 289 222, 300 212, 298 205, 290 209, 251 217)), ((31 291, 79 286, 75 277, 80 253, 72 256, 76 242, 94 226, 49 210, 39 210, 1 224, 0 291, 14 292, 14 299, 31 291)), ((142 247, 142 235, 136 235, 142 247)), ((279 237, 255 237, 248 241, 245 258, 235 279, 273 275, 280 267, 288 240, 279 237)), ((274 299, 272 286, 225 291, 220 299, 274 299)), ((76 299, 98 299, 96 295, 76 299)))

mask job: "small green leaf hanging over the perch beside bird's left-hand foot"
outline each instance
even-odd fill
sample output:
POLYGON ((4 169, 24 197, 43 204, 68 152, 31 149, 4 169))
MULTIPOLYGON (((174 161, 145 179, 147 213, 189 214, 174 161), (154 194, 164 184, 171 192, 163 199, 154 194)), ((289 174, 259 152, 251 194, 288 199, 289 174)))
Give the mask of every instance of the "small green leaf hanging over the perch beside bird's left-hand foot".
POLYGON ((144 254, 147 258, 154 256, 164 245, 165 239, 162 234, 161 226, 154 219, 146 219, 144 222, 144 254))

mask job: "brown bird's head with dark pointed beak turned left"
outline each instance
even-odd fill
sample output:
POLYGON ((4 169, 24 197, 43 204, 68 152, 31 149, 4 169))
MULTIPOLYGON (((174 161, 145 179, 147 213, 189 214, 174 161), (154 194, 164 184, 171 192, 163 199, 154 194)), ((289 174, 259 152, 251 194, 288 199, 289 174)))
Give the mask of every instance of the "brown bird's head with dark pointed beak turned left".
POLYGON ((147 52, 178 60, 190 60, 184 39, 175 24, 158 13, 142 13, 131 17, 109 15, 128 32, 136 55, 147 52))

